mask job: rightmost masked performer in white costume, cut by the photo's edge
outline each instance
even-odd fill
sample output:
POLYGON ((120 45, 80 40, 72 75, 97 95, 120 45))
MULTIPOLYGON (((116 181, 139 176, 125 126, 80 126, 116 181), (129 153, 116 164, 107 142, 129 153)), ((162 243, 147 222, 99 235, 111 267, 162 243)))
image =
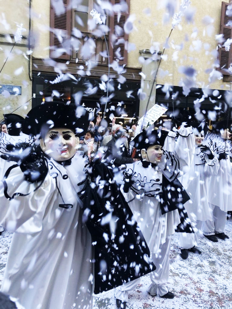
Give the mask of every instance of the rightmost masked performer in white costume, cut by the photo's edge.
POLYGON ((203 233, 210 241, 217 242, 219 239, 228 239, 224 233, 226 226, 227 211, 232 210, 232 171, 231 153, 231 120, 223 120, 217 123, 214 131, 206 136, 206 145, 217 155, 219 170, 216 176, 209 180, 209 205, 213 220, 203 223, 203 233))

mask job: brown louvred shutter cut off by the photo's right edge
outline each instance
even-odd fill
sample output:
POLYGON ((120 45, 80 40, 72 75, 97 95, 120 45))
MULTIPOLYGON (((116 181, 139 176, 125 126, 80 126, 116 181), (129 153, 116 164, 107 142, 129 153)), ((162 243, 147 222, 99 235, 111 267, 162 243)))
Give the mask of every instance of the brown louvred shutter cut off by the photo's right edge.
POLYGON ((226 51, 223 44, 227 39, 232 38, 232 27, 226 26, 226 24, 230 21, 232 22, 232 16, 226 15, 228 2, 221 2, 221 26, 220 26, 220 34, 223 34, 223 42, 221 43, 222 47, 218 49, 218 59, 220 67, 218 70, 223 75, 230 75, 230 73, 226 70, 229 69, 230 63, 232 62, 232 45, 230 45, 230 50, 226 51))

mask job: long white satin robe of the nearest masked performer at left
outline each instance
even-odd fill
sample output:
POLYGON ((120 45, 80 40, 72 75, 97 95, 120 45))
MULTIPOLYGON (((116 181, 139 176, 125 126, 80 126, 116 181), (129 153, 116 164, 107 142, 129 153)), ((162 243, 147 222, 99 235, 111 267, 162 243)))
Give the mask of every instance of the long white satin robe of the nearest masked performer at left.
POLYGON ((76 193, 85 163, 79 155, 65 167, 51 159, 36 191, 38 184, 25 181, 20 168, 14 168, 6 179, 7 193, 29 194, 11 201, 1 183, 0 222, 15 232, 1 291, 18 298, 25 309, 92 308, 92 241, 76 193), (73 208, 59 207, 64 203, 73 208))

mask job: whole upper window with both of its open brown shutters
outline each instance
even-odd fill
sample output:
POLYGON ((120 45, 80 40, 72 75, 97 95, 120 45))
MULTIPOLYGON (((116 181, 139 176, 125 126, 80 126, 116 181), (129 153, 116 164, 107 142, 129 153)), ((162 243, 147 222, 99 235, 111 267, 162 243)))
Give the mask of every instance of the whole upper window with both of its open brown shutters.
POLYGON ((70 61, 85 62, 88 57, 82 53, 86 41, 92 40, 94 50, 92 60, 97 64, 107 64, 106 43, 109 46, 110 63, 117 60, 119 64, 127 64, 128 35, 124 24, 129 16, 130 0, 111 0, 112 5, 120 5, 121 11, 108 18, 96 0, 50 0, 50 57, 70 61), (61 5, 63 3, 63 6, 61 5), (92 19, 90 11, 96 8, 101 19, 110 27, 105 38, 99 32, 91 32, 88 21, 92 19), (77 31, 75 31, 77 30, 77 31), (80 34, 81 33, 81 34, 80 34), (105 42, 106 39, 106 42, 105 42))

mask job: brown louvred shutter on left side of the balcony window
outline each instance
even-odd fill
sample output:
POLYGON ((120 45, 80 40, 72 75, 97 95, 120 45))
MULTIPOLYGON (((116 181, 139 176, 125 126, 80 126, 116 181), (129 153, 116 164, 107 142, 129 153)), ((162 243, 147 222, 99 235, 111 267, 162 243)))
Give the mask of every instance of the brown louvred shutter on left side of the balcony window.
MULTIPOLYGON (((53 0, 55 3, 56 0, 53 0)), ((50 57, 58 59, 70 59, 71 55, 71 0, 63 0, 65 12, 60 15, 55 14, 52 1, 50 3, 50 28, 54 31, 50 32, 50 57), (62 42, 58 36, 62 36, 62 42), (61 56, 55 56, 56 49, 64 48, 67 52, 61 56)))

